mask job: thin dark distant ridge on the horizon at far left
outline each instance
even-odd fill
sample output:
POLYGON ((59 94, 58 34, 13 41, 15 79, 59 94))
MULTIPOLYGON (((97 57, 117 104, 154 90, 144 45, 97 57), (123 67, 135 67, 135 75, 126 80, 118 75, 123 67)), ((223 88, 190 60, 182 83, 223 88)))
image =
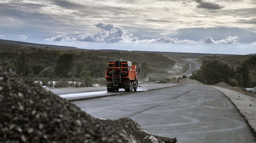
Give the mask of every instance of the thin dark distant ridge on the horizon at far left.
POLYGON ((37 48, 64 48, 64 49, 76 49, 76 47, 69 46, 58 46, 58 45, 45 45, 45 44, 37 44, 37 43, 28 43, 28 42, 20 42, 20 41, 12 41, 12 40, 2 40, 0 39, 0 45, 20 45, 25 47, 37 47, 37 48))

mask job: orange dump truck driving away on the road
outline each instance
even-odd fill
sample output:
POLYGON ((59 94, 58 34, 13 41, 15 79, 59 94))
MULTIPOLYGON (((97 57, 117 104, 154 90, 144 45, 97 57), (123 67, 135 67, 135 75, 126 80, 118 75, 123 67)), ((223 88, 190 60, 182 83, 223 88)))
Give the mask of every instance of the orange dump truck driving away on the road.
POLYGON ((106 69, 107 89, 126 92, 137 91, 139 69, 129 61, 109 61, 106 69))

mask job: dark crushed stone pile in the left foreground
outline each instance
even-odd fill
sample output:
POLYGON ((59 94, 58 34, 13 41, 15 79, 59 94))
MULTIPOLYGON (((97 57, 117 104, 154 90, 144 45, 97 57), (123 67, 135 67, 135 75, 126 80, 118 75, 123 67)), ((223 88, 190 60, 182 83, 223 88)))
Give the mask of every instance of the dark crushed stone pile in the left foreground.
POLYGON ((132 119, 100 120, 0 67, 0 141, 5 143, 175 143, 132 119))

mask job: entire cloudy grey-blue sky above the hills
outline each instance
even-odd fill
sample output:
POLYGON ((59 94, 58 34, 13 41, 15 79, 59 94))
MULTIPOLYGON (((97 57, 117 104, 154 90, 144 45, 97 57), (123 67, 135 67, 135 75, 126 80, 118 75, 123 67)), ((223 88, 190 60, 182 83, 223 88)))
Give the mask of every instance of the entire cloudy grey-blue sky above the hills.
POLYGON ((256 53, 256 0, 0 0, 0 39, 85 49, 256 53))

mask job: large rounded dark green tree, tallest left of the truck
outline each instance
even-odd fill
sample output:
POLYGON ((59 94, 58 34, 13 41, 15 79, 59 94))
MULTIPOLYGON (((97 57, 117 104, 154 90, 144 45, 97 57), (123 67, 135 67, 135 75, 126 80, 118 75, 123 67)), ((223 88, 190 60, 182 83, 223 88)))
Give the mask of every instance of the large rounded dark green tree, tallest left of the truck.
POLYGON ((68 78, 68 74, 72 69, 72 66, 74 64, 75 56, 74 54, 62 54, 58 56, 56 68, 55 68, 55 74, 59 78, 68 78))

